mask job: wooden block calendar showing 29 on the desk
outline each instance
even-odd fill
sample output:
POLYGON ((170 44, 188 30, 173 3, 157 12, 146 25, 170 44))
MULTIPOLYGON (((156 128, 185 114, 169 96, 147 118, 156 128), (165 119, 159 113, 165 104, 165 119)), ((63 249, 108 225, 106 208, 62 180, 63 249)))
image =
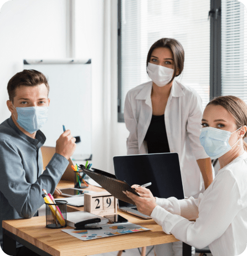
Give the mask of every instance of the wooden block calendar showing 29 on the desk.
POLYGON ((84 194, 84 211, 104 216, 117 213, 117 199, 109 192, 84 194))

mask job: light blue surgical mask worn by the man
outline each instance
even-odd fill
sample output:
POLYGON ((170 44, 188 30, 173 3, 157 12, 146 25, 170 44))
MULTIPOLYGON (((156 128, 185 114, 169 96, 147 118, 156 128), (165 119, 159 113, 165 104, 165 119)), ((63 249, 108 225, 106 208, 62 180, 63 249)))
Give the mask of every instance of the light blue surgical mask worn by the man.
MULTIPOLYGON (((14 106, 14 105, 13 105, 14 106)), ((14 115, 14 118, 18 122, 19 126, 33 134, 38 131, 48 119, 48 107, 47 106, 35 106, 35 107, 14 107, 17 110, 18 117, 14 115)))

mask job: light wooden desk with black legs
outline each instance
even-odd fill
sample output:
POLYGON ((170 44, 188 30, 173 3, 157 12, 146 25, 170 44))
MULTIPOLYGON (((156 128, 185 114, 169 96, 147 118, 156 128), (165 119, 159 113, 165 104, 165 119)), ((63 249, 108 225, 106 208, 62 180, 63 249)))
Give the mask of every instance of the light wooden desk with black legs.
MULTIPOLYGON (((59 188, 71 187, 71 183, 60 182, 59 188)), ((102 191, 102 188, 90 186, 88 190, 102 191)), ((73 211, 84 207, 68 206, 73 211)), ((117 235, 83 241, 64 233, 61 229, 45 228, 45 216, 30 219, 14 219, 3 221, 3 248, 8 255, 16 255, 16 241, 42 256, 85 256, 118 250, 145 247, 149 245, 171 243, 178 241, 173 235, 167 235, 161 226, 152 219, 142 219, 132 214, 119 211, 129 222, 150 228, 151 231, 117 235)), ((66 227, 69 229, 71 227, 66 227)), ((190 247, 191 248, 191 247, 190 247)), ((189 246, 183 248, 183 256, 191 255, 189 246)))

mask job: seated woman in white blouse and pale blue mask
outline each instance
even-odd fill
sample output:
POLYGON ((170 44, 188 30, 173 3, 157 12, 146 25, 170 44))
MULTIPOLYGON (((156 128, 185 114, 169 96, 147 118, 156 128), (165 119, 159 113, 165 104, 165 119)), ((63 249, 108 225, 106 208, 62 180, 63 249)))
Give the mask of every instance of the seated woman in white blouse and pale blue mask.
POLYGON ((137 185, 141 197, 125 193, 167 234, 197 248, 209 245, 214 256, 239 255, 247 244, 247 105, 235 96, 215 98, 204 110, 202 126, 200 143, 219 159, 220 170, 198 199, 155 198, 137 185))

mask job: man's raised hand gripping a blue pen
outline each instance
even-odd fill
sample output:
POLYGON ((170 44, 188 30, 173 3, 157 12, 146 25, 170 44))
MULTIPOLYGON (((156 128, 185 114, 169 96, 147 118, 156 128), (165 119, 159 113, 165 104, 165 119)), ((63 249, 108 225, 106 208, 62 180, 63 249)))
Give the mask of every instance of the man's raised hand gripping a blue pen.
POLYGON ((72 137, 70 130, 66 130, 56 141, 56 153, 69 159, 76 148, 75 138, 72 137))

